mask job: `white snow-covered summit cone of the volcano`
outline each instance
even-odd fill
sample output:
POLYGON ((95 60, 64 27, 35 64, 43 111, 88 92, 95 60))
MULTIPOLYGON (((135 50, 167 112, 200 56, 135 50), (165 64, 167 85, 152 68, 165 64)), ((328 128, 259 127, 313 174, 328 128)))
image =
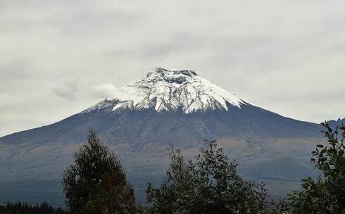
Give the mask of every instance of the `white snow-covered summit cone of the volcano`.
POLYGON ((153 68, 146 77, 125 84, 120 90, 121 96, 101 101, 87 111, 107 109, 118 112, 149 108, 158 112, 181 110, 192 113, 215 109, 228 111, 230 106, 241 108, 246 104, 193 70, 153 68))

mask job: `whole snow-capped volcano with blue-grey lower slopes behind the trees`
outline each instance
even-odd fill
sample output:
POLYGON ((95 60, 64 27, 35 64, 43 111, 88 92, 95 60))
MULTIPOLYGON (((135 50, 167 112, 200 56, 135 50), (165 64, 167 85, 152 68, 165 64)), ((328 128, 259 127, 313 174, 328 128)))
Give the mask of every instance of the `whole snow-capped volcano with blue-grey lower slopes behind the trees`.
POLYGON ((69 118, 1 137, 0 181, 60 180, 89 128, 120 156, 138 191, 163 177, 170 144, 192 158, 207 138, 278 195, 315 175, 309 158, 322 138, 320 125, 254 106, 192 70, 154 68, 69 118))

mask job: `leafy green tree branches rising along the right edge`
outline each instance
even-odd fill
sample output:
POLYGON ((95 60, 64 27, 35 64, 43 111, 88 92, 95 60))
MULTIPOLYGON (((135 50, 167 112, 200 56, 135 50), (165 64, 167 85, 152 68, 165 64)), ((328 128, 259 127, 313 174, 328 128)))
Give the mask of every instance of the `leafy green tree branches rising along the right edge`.
POLYGON ((327 122, 321 125, 327 142, 318 144, 311 158, 321 175, 302 180, 301 190, 289 196, 292 213, 345 213, 345 127, 332 130, 327 122))

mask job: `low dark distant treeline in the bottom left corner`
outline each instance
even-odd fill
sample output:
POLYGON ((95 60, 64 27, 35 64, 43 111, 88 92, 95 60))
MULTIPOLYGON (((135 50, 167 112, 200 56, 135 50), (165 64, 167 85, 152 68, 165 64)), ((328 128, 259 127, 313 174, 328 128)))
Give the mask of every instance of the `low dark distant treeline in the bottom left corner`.
POLYGON ((27 203, 0 204, 1 214, 67 214, 61 208, 53 208, 48 203, 29 205, 27 203))

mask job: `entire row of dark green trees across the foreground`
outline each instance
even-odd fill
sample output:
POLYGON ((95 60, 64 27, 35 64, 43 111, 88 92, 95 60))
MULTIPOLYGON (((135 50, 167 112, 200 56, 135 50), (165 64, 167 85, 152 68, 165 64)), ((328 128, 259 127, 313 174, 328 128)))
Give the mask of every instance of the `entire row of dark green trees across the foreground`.
MULTIPOLYGON (((320 176, 302 180, 301 190, 282 201, 272 201, 264 183, 244 180, 217 142, 205 140, 193 160, 170 146, 166 176, 159 187, 147 184, 144 205, 135 202, 118 156, 90 130, 87 143, 63 172, 66 204, 73 214, 345 214, 345 127, 322 125, 327 140, 311 158, 320 176)), ((46 213, 64 212, 44 204, 36 213, 44 207, 46 213)))

